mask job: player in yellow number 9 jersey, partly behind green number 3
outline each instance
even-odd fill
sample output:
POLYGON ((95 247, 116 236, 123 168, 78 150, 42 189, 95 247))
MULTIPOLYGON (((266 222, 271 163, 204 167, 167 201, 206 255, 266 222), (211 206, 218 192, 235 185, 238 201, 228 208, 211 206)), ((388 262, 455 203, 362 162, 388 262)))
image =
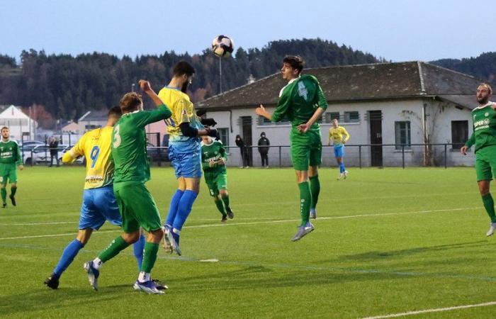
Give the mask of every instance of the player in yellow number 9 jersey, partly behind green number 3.
MULTIPOLYGON (((74 162, 78 157, 86 158, 86 179, 84 179, 83 204, 79 216, 79 232, 76 239, 65 247, 60 261, 52 274, 45 279, 51 289, 57 289, 59 279, 79 250, 88 242, 93 230, 101 228, 105 220, 120 226, 119 207, 113 194, 113 162, 111 160, 111 140, 113 125, 119 121, 120 107, 114 106, 108 111, 106 126, 96 128, 84 134, 79 141, 62 157, 64 164, 74 162)), ((143 258, 145 237, 141 235, 134 245, 138 268, 143 258)), ((162 286, 165 288, 165 286, 162 286)))

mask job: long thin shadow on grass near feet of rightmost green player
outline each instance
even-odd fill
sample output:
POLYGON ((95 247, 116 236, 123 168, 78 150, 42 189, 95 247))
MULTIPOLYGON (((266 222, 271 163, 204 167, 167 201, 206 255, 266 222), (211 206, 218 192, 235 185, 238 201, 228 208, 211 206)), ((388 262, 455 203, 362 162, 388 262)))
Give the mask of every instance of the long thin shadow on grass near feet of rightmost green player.
POLYGON ((373 252, 363 252, 361 254, 346 254, 340 257, 340 259, 352 259, 352 260, 388 259, 391 257, 406 257, 412 254, 422 254, 424 252, 442 252, 445 250, 457 250, 457 249, 465 249, 470 247, 483 247, 483 246, 487 246, 488 244, 489 243, 487 242, 487 240, 478 240, 476 242, 459 242, 457 244, 436 245, 431 247, 417 247, 406 250, 390 250, 385 252, 373 251, 373 252))

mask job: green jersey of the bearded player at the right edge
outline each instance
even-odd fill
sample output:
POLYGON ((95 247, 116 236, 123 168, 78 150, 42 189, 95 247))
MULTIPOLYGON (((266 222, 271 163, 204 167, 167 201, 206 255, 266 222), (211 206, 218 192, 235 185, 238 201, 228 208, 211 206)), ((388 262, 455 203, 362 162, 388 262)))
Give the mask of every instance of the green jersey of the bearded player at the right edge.
POLYGON ((496 145, 496 103, 488 102, 485 106, 472 111, 473 134, 466 142, 467 147, 475 145, 475 152, 483 147, 496 145))

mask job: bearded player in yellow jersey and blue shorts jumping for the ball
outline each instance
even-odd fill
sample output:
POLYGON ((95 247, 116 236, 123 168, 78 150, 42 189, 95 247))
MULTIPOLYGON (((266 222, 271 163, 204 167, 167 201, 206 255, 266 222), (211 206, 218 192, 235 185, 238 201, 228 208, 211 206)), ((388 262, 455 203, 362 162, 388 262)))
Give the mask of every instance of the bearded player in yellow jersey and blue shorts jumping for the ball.
POLYGON ((195 69, 181 61, 174 66, 172 79, 159 91, 159 98, 169 106, 172 116, 165 120, 169 132, 169 159, 174 167, 178 189, 172 196, 169 213, 164 223, 164 248, 169 252, 179 249, 179 234, 200 191, 202 135, 217 137, 217 130, 205 128, 215 123, 196 115, 193 103, 186 94, 195 69), (206 120, 206 121, 205 121, 206 120))

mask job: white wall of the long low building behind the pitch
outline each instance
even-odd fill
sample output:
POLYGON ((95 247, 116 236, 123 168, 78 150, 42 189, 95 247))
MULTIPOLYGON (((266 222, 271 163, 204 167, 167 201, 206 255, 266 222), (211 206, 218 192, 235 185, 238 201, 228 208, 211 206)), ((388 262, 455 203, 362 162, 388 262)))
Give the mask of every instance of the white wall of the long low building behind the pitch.
MULTIPOLYGON (((434 102, 434 101, 433 101, 434 102)), ((386 167, 395 166, 401 167, 403 156, 405 167, 422 166, 424 157, 424 147, 412 145, 410 150, 405 149, 403 154, 401 150, 396 150, 395 147, 395 122, 410 121, 410 139, 412 144, 422 144, 423 128, 422 128, 422 108, 424 100, 403 100, 403 101, 377 101, 377 102, 361 102, 361 103, 339 103, 332 104, 327 108, 326 113, 339 112, 342 117, 346 111, 358 111, 360 115, 359 123, 344 123, 344 118, 341 119, 339 125, 344 126, 351 135, 351 139, 346 145, 345 163, 347 166, 356 167, 361 164, 363 167, 371 165, 371 150, 367 146, 371 142, 370 125, 368 122, 368 111, 382 111, 382 136, 383 136, 383 165, 386 167), (361 150, 359 150, 361 149, 361 150), (361 151, 361 154, 360 154, 361 151), (360 156, 361 155, 361 156, 360 156)), ((439 102, 436 102, 439 103, 439 102)), ((274 107, 266 107, 267 111, 272 113, 274 107)), ((427 118, 432 117, 428 114, 429 103, 427 103, 427 118)), ((208 112, 208 117, 215 118, 218 122, 216 128, 230 128, 230 111, 214 111, 208 112)), ((281 165, 290 166, 291 156, 288 145, 289 133, 291 125, 259 125, 258 116, 254 113, 254 108, 242 108, 232 110, 232 132, 229 130, 229 148, 230 148, 230 164, 238 166, 241 164, 239 149, 235 145, 235 137, 237 134, 242 135, 242 126, 239 118, 242 116, 252 117, 252 137, 253 144, 257 145, 261 132, 266 133, 271 146, 283 145, 281 147, 281 165)), ((436 130, 438 135, 432 142, 451 142, 451 121, 468 120, 469 133, 472 132, 472 124, 470 120, 469 110, 458 110, 454 106, 445 108, 445 111, 439 114, 436 122, 436 130)), ((430 125, 428 123, 428 125, 430 125)), ((331 128, 330 123, 321 124, 322 134, 322 166, 336 167, 334 152, 332 147, 327 147, 328 131, 331 128)), ((427 128, 429 130, 429 128, 427 128)), ((444 147, 436 147, 436 157, 444 155, 444 147), (442 149, 442 150, 441 150, 442 149), (442 153, 441 153, 442 151, 442 153)), ((253 150, 253 164, 260 165, 260 157, 257 148, 253 150)), ((442 158, 442 157, 441 157, 442 158)), ((272 147, 269 150, 269 165, 278 166, 279 164, 279 149, 272 147)), ((470 156, 462 157, 457 152, 448 152, 448 165, 470 164, 473 159, 470 156)), ((444 164, 437 161, 437 164, 444 164)))

